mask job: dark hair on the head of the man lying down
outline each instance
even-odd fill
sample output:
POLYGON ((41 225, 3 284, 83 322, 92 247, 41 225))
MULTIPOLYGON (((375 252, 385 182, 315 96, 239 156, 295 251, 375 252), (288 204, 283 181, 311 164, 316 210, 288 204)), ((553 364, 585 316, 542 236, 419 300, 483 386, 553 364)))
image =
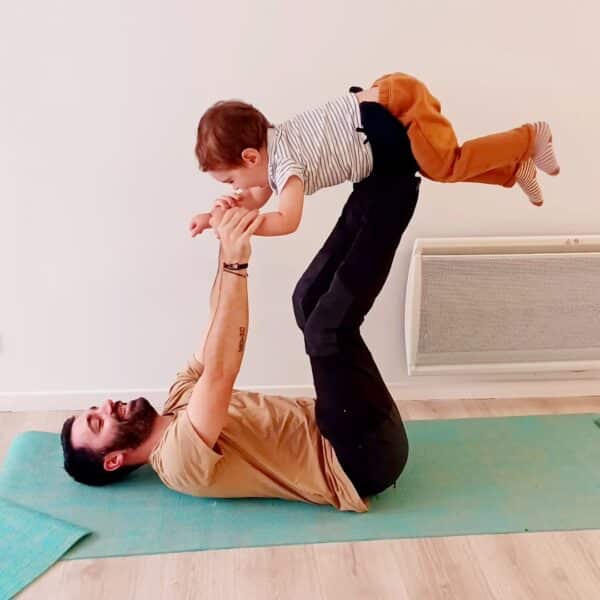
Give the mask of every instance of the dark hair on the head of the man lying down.
POLYGON ((71 430, 75 417, 67 419, 60 432, 60 442, 63 447, 65 471, 79 483, 86 485, 107 485, 120 481, 126 475, 142 465, 120 467, 115 471, 104 469, 104 457, 110 450, 100 451, 90 448, 74 448, 71 443, 71 430))

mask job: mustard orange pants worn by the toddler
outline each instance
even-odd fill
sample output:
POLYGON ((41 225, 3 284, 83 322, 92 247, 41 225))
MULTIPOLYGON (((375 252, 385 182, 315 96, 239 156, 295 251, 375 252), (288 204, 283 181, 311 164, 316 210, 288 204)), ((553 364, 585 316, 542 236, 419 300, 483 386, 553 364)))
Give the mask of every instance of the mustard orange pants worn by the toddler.
POLYGON ((379 102, 407 129, 422 175, 434 181, 469 181, 510 187, 519 164, 533 152, 533 125, 494 133, 458 145, 439 100, 410 75, 380 77, 379 102))

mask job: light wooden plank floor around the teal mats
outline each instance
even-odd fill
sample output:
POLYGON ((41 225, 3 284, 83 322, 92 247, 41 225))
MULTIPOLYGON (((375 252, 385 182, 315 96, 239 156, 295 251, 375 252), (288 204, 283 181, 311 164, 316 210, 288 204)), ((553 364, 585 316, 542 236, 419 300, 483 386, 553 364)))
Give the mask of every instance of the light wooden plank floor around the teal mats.
MULTIPOLYGON (((405 419, 600 413, 600 396, 399 404, 405 419)), ((58 431, 66 416, 68 413, 61 412, 0 413, 0 460, 16 433, 27 429, 58 431)), ((20 597, 593 600, 600 598, 600 531, 61 561, 20 597)))

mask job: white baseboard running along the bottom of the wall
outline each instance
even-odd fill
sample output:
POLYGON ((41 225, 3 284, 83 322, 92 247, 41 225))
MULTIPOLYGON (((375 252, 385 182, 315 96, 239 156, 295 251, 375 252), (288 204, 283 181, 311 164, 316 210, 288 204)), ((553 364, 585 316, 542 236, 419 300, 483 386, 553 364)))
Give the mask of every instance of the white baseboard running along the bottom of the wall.
MULTIPOLYGON (((456 400, 467 398, 557 398, 600 396, 600 379, 559 379, 535 381, 420 381, 388 383, 396 400, 456 400)), ((243 386, 264 394, 314 397, 311 385, 243 386)), ((98 406, 107 398, 131 400, 143 396, 157 409, 167 398, 164 389, 87 390, 65 392, 0 393, 0 412, 38 410, 81 410, 98 406)))

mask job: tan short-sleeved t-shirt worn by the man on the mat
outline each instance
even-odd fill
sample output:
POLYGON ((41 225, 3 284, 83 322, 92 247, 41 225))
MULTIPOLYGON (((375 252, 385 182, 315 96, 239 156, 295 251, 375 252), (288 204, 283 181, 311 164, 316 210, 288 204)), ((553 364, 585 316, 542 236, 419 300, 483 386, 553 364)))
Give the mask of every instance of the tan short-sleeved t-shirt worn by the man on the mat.
POLYGON ((177 374, 163 415, 175 418, 150 454, 168 487, 213 498, 284 498, 365 512, 367 504, 321 435, 311 398, 233 390, 228 418, 213 448, 185 410, 202 364, 177 374))

